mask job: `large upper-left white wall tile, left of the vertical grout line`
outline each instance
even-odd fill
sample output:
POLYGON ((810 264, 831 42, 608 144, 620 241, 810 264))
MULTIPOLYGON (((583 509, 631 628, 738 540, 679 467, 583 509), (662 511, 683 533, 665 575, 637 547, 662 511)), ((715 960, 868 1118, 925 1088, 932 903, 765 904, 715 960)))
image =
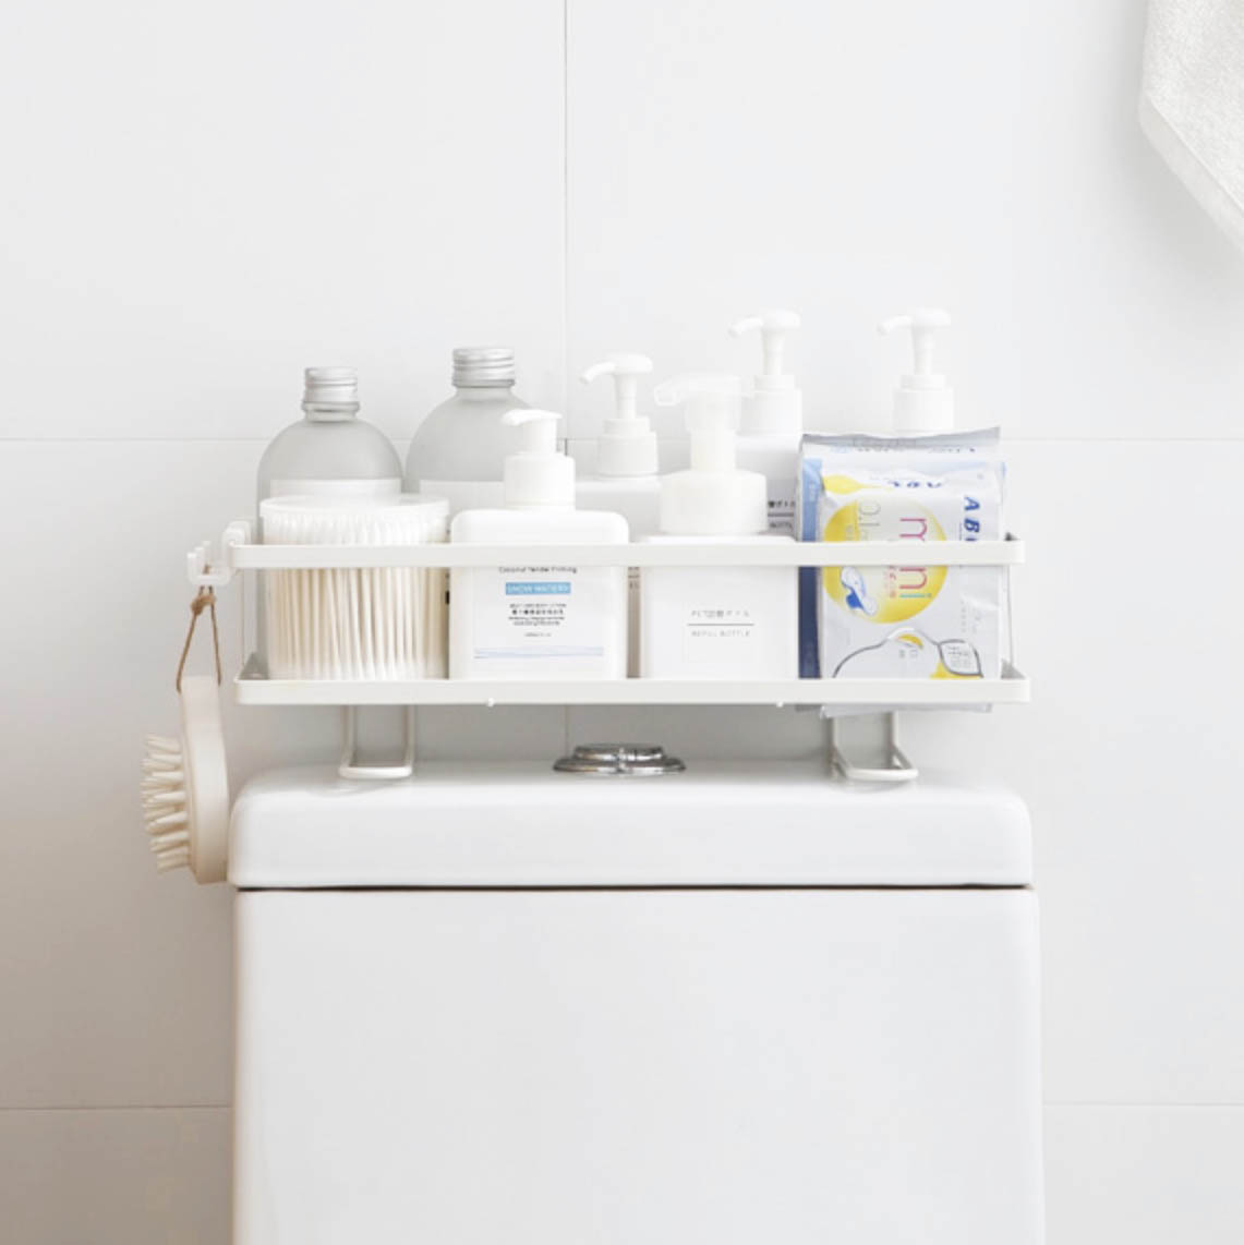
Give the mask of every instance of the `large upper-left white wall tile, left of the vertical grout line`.
POLYGON ((0 428, 266 437, 308 362, 408 437, 448 351, 562 398, 562 4, 11 0, 0 428))

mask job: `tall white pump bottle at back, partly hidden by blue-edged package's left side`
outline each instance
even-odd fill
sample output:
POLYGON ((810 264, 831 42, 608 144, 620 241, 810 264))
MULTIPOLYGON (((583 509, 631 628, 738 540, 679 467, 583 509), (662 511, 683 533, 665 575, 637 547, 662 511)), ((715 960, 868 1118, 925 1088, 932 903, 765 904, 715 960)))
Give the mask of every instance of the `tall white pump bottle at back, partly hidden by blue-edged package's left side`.
POLYGON ((785 371, 786 335, 799 327, 794 311, 780 309, 746 316, 731 335, 761 335, 761 371, 743 397, 738 423, 738 462, 758 471, 767 482, 768 530, 793 537, 799 477, 799 438, 803 436, 803 393, 785 371))

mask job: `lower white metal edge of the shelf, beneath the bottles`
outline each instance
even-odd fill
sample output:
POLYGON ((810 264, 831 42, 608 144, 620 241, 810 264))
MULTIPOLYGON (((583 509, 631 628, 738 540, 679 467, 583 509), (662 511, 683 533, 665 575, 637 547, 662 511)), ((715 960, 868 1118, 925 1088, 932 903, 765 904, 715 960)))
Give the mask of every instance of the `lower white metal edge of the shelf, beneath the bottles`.
POLYGON ((844 708, 958 708, 1020 705, 1029 680, 1014 666, 1001 679, 789 679, 722 682, 666 679, 535 682, 517 680, 234 680, 239 705, 776 705, 844 708))

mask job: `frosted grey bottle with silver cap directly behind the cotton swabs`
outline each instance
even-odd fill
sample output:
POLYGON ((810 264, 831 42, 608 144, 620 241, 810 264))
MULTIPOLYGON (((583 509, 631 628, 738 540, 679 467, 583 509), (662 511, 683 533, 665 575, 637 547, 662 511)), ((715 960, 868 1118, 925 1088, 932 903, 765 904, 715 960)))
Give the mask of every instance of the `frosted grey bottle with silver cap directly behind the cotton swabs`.
POLYGON ((279 432, 259 459, 259 502, 294 493, 400 493, 397 451, 359 418, 359 374, 308 367, 304 376, 303 418, 279 432))

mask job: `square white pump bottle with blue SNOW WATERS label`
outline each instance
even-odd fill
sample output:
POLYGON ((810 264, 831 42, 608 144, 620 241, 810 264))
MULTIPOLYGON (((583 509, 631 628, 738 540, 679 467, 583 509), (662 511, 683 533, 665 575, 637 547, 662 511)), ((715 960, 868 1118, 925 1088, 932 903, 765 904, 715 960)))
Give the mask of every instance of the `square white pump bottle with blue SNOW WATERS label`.
MULTIPOLYGON (((456 544, 626 544, 626 520, 574 508, 574 461, 553 411, 503 422, 523 438, 507 457, 503 509, 462 510, 456 544)), ((626 568, 533 563, 456 566, 450 575, 451 679, 625 679, 626 568)))

